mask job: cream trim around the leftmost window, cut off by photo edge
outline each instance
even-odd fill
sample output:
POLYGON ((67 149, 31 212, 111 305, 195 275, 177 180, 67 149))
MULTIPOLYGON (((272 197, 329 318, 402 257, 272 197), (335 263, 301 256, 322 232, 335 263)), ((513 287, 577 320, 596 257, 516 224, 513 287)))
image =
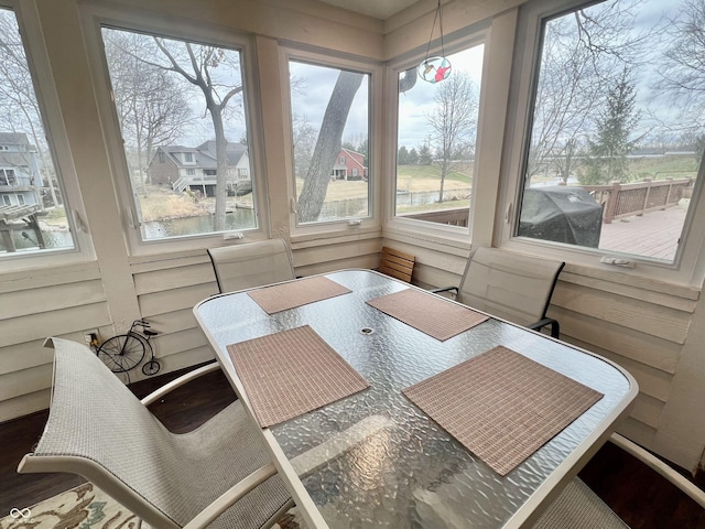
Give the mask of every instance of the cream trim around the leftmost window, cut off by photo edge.
POLYGON ((0 256, 3 272, 29 268, 50 268, 74 264, 96 258, 89 228, 85 224, 86 210, 78 187, 76 168, 70 156, 68 136, 64 127, 56 86, 52 78, 46 43, 41 30, 40 17, 33 2, 2 0, 0 6, 14 11, 26 60, 32 74, 34 91, 43 119, 44 133, 52 154, 57 181, 64 197, 64 207, 75 248, 45 249, 33 252, 18 251, 0 256))

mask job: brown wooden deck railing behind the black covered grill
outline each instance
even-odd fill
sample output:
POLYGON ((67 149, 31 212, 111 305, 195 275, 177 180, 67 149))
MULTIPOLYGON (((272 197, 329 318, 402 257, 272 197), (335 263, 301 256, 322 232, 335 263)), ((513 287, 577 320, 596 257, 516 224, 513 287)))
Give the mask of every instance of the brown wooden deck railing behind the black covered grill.
POLYGON ((595 199, 603 205, 603 222, 639 215, 677 205, 693 186, 693 179, 658 180, 647 179, 636 184, 584 185, 595 199))

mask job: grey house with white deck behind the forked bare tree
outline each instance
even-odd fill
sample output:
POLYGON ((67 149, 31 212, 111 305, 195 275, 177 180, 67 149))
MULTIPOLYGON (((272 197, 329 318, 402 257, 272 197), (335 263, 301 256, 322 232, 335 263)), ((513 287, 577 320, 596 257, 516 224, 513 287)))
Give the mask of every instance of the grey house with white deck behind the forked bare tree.
MULTIPOLYGON (((228 142, 227 155, 228 194, 246 194, 252 188, 247 145, 228 142)), ((188 188, 199 191, 205 196, 214 196, 217 168, 216 142, 206 141, 195 148, 158 147, 147 168, 147 174, 155 185, 170 185, 177 192, 188 188)))

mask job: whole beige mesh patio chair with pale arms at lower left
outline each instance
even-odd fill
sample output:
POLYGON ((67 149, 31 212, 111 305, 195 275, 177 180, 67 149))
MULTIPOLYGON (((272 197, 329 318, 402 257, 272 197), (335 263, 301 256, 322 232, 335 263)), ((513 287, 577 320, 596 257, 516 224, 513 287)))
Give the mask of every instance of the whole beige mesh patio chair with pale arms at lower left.
POLYGON ((160 529, 269 527, 293 505, 239 400, 185 434, 147 408, 217 364, 140 401, 85 345, 47 344, 55 349, 50 415, 18 472, 82 475, 160 529))

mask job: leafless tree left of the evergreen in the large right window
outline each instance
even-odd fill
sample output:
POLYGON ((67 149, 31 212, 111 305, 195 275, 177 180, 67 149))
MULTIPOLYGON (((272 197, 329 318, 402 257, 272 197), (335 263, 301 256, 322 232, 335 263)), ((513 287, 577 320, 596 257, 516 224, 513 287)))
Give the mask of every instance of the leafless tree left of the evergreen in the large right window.
POLYGON ((528 180, 552 166, 567 181, 583 134, 605 101, 606 87, 616 83, 625 65, 639 64, 650 35, 631 31, 640 3, 611 0, 546 23, 528 180))

